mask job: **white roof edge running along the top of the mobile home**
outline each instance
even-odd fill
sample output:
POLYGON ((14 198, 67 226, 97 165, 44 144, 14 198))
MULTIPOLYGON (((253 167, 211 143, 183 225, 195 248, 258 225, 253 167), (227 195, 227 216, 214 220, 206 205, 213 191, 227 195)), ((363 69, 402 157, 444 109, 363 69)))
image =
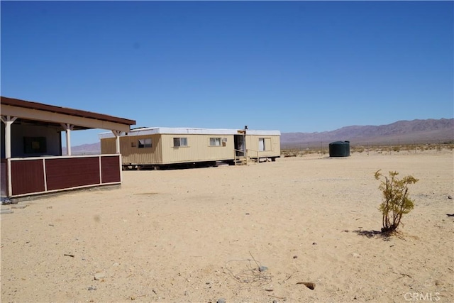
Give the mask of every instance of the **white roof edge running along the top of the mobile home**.
MULTIPOLYGON (((144 127, 132 129, 129 133, 122 134, 121 136, 144 136, 162 134, 198 134, 198 135, 237 135, 240 129, 227 129, 227 128, 182 128, 182 127, 144 127)), ((246 134, 256 136, 280 136, 280 131, 255 131, 247 130, 246 134)), ((111 131, 99 133, 99 139, 115 138, 114 133, 111 131)))

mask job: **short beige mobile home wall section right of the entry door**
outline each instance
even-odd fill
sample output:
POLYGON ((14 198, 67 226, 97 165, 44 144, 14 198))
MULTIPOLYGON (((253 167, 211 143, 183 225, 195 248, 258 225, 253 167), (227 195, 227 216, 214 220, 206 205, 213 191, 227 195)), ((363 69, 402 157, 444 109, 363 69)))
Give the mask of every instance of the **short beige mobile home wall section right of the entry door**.
POLYGON ((280 136, 246 134, 246 149, 251 158, 279 157, 281 154, 280 136))

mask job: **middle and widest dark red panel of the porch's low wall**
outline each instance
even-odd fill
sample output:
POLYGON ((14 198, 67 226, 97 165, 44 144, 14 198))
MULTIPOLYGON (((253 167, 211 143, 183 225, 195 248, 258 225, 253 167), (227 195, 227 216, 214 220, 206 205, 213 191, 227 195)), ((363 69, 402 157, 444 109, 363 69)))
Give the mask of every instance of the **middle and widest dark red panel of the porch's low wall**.
POLYGON ((48 190, 100 184, 99 157, 48 159, 48 190))

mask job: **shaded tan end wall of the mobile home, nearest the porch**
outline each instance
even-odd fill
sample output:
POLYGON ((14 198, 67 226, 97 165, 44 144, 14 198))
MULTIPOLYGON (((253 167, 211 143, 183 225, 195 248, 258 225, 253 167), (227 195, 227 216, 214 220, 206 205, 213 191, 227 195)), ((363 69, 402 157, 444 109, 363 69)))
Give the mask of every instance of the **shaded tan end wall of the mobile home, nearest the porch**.
MULTIPOLYGON (((120 153, 123 164, 163 164, 161 136, 121 136, 120 153), (151 143, 151 146, 148 143, 151 143)), ((115 144, 115 138, 101 139, 101 153, 116 153, 115 144)))

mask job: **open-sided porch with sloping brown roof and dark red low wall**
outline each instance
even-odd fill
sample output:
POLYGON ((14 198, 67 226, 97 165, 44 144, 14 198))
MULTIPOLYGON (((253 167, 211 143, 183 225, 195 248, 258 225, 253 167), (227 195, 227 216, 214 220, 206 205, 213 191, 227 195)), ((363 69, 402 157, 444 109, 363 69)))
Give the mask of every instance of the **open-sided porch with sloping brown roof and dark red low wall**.
POLYGON ((1 121, 2 200, 121 184, 119 139, 111 155, 75 156, 71 132, 101 128, 118 137, 135 121, 9 97, 1 97, 1 121))

